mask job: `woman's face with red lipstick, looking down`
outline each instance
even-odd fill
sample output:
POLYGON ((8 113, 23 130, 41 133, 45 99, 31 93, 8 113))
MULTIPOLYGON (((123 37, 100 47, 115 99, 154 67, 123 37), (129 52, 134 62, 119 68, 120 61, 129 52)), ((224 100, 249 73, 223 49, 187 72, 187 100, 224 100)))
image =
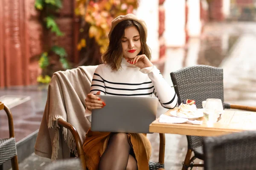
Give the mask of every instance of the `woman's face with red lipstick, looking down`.
POLYGON ((135 26, 125 29, 125 34, 121 39, 122 52, 125 58, 136 57, 141 50, 140 34, 135 26))

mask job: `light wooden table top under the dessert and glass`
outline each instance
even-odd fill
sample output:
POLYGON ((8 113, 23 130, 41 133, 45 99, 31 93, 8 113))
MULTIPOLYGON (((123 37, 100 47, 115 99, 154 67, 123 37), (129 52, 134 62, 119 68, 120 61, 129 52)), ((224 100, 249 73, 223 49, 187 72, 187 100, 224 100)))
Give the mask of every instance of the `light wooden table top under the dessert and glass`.
MULTIPOLYGON (((177 108, 170 109, 165 115, 170 116, 170 111, 174 110, 177 108)), ((205 117, 198 120, 203 120, 203 124, 160 123, 158 118, 149 125, 149 131, 193 136, 219 136, 243 130, 256 130, 256 112, 225 110, 219 122, 210 124, 205 117)))

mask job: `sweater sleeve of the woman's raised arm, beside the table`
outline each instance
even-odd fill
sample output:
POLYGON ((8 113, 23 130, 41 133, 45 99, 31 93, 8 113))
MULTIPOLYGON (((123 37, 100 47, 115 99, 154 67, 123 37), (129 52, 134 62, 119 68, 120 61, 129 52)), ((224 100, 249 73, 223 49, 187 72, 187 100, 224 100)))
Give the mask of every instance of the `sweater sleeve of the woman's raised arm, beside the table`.
POLYGON ((175 108, 178 97, 175 90, 166 82, 160 71, 155 66, 143 68, 140 71, 148 74, 149 79, 151 79, 154 85, 153 93, 159 99, 160 104, 164 108, 175 108))

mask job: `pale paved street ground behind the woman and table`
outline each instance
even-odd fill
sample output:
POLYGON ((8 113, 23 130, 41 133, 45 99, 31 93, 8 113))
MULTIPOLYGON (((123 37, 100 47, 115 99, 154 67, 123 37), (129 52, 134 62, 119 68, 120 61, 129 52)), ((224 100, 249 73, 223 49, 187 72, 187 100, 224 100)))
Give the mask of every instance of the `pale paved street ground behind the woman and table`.
MULTIPOLYGON (((254 76, 256 75, 256 69, 254 68, 256 63, 256 48, 254 47, 256 44, 256 31, 253 31, 256 30, 255 28, 256 24, 254 23, 229 23, 222 25, 215 23, 206 27, 203 40, 190 39, 188 51, 168 49, 163 76, 172 85, 169 76, 171 71, 198 63, 220 66, 224 68, 225 102, 256 106, 256 78, 254 76), (236 37, 238 34, 240 35, 239 40, 233 46, 231 52, 225 51, 227 45, 223 45, 225 42, 222 39, 220 40, 220 37, 229 35, 236 37), (208 46, 205 46, 206 43, 208 43, 208 46), (224 50, 220 51, 220 44, 224 50), (198 48, 198 46, 201 48, 198 48), (224 58, 227 55, 228 57, 224 58), (223 58, 224 60, 222 61, 223 58), (219 62, 220 59, 222 62, 219 62)), ((158 114, 161 113, 164 113, 164 109, 159 108, 158 114)), ((157 161, 159 136, 158 134, 148 134, 148 138, 152 144, 151 160, 157 161)), ((181 162, 186 155, 186 147, 186 136, 166 134, 166 170, 181 169, 181 162)), ((49 164, 49 159, 40 158, 32 154, 20 163, 20 170, 42 170, 46 164, 49 164)), ((200 170, 203 168, 195 167, 194 169, 200 170)))

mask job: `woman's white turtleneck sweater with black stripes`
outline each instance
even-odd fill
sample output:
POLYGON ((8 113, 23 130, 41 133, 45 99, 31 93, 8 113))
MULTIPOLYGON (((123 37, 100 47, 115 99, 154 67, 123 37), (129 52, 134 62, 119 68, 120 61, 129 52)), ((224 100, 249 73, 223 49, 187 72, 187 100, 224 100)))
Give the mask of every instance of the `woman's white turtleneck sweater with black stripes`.
MULTIPOLYGON (((121 66, 119 71, 113 71, 110 65, 99 65, 93 75, 90 93, 100 91, 100 95, 156 96, 164 108, 171 109, 177 105, 174 89, 155 66, 140 69, 125 58, 121 66)), ((90 115, 91 111, 86 108, 85 116, 90 115)))

